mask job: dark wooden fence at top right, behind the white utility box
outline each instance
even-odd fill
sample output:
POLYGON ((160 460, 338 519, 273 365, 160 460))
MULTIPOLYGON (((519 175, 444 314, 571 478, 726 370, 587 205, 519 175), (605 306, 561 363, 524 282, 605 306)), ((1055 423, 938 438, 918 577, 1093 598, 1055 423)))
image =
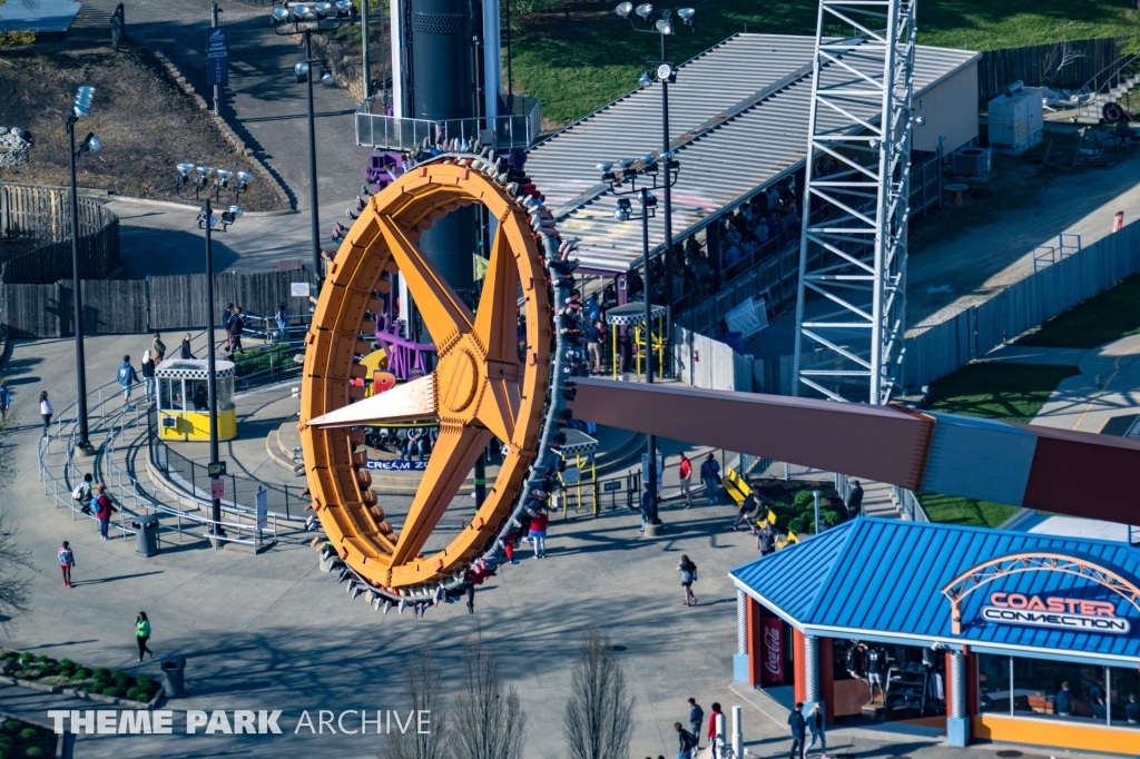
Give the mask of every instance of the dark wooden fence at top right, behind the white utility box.
POLYGON ((987 50, 978 62, 978 98, 995 98, 1016 81, 1029 87, 1083 87, 1119 58, 1121 42, 1126 39, 1108 36, 987 50))

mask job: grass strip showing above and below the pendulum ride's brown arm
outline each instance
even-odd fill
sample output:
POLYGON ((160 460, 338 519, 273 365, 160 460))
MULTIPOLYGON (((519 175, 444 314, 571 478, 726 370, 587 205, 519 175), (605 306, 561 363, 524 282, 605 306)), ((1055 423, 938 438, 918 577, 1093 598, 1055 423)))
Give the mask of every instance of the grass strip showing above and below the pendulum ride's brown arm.
MULTIPOLYGON (((1078 374, 1070 366, 968 364, 930 385, 935 411, 980 416, 1003 422, 1029 422, 1058 383, 1078 374)), ((1016 506, 959 496, 925 493, 919 501, 934 522, 997 527, 1016 506)))

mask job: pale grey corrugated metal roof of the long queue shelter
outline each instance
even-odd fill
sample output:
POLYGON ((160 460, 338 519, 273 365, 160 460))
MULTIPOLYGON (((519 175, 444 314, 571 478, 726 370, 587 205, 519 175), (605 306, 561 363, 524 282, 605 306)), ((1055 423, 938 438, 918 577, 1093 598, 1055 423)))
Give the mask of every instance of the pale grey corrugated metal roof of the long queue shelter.
MULTIPOLYGON (((814 46, 811 36, 736 34, 681 66, 677 83, 669 85, 670 137, 676 140, 718 116, 723 122, 677 148, 675 238, 694 231, 702 219, 744 199, 804 160, 814 46), (742 109, 766 89, 774 91, 742 109)), ((968 50, 919 46, 915 96, 978 57, 968 50)), ((838 79, 831 68, 824 74, 838 79)), ((546 196, 547 207, 561 217, 560 230, 581 239, 578 258, 583 266, 627 271, 642 251, 641 225, 613 218, 612 195, 581 197, 598 183, 594 166, 660 148, 661 92, 651 87, 630 92, 530 149, 527 171, 546 196)), ((650 221, 651 248, 663 239, 659 214, 650 221)))

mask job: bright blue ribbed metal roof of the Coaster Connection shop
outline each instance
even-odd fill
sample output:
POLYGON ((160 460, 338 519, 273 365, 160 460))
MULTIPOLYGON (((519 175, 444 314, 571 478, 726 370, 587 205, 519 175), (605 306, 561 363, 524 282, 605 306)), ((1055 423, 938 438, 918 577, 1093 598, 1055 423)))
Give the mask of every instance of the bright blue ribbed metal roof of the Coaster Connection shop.
POLYGON ((1126 544, 898 520, 857 519, 730 572, 738 585, 805 630, 831 637, 865 634, 1140 659, 1140 612, 1082 577, 1057 571, 1010 573, 970 594, 954 635, 942 589, 986 561, 1024 552, 1096 562, 1125 579, 1140 576, 1140 552, 1126 544), (987 622, 980 610, 994 591, 1112 602, 1127 634, 1072 631, 987 622), (829 630, 830 628, 830 630, 829 630))

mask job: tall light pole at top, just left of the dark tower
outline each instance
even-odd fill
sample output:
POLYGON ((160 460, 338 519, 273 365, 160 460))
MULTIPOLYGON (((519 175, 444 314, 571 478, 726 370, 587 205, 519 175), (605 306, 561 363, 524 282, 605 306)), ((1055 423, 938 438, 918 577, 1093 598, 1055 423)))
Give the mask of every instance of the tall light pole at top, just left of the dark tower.
MULTIPOLYGON (((363 1, 367 2, 367 0, 363 1)), ((324 279, 321 276, 324 267, 320 261, 320 219, 317 211, 317 132, 312 116, 312 75, 310 70, 312 64, 324 64, 325 62, 312 57, 312 33, 356 24, 359 19, 352 0, 293 6, 285 2, 270 10, 269 14, 274 31, 278 35, 304 34, 306 59, 293 66, 293 73, 296 74, 298 83, 307 83, 309 90, 309 204, 311 205, 312 222, 312 268, 317 275, 317 281, 320 283, 324 279)), ((367 34, 367 30, 365 33, 367 34)), ((320 81, 332 83, 333 73, 323 68, 320 81)))

